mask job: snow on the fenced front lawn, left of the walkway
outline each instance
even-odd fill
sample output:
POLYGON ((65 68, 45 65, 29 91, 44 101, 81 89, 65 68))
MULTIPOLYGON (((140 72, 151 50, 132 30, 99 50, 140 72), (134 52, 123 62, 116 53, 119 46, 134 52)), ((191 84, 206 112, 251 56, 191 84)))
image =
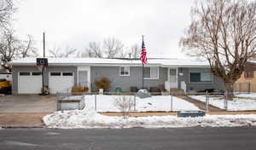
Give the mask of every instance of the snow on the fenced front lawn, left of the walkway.
MULTIPOLYGON (((95 107, 95 95, 84 95, 85 105, 90 108, 95 107)), ((115 99, 123 95, 96 95, 96 111, 97 112, 120 112, 114 106, 115 99)), ((134 101, 134 95, 125 95, 134 101)), ((69 99, 77 99, 77 96, 71 96, 69 99)), ((136 97, 136 110, 137 112, 156 112, 156 111, 171 111, 171 95, 155 95, 152 97, 140 99, 136 97)), ((194 104, 179 99, 175 96, 172 97, 172 110, 200 110, 194 104)), ((134 111, 134 107, 132 110, 134 111)))

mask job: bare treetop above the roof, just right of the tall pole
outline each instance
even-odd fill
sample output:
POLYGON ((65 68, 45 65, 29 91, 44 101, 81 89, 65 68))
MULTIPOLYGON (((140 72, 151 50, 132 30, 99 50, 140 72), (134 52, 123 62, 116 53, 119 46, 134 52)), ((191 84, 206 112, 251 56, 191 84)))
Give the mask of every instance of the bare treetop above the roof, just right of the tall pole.
POLYGON ((75 55, 76 51, 77 49, 70 48, 69 46, 65 49, 55 46, 52 49, 49 49, 49 55, 54 58, 67 58, 70 57, 70 55, 75 55))

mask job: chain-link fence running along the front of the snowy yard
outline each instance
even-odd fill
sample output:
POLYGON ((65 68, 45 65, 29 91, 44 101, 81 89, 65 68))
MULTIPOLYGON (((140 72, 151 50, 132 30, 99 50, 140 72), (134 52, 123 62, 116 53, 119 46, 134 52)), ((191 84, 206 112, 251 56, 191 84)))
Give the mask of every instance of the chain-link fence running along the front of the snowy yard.
MULTIPOLYGON (((96 112, 121 112, 122 108, 129 107, 131 112, 176 112, 198 111, 255 111, 256 93, 235 92, 230 99, 226 93, 193 92, 186 94, 173 92, 150 93, 147 98, 140 98, 137 93, 131 92, 84 92, 58 93, 58 100, 66 100, 74 105, 74 100, 83 100, 84 106, 96 112)), ((77 104, 79 105, 79 104, 77 104)), ((61 110, 61 109, 58 109, 61 110)))

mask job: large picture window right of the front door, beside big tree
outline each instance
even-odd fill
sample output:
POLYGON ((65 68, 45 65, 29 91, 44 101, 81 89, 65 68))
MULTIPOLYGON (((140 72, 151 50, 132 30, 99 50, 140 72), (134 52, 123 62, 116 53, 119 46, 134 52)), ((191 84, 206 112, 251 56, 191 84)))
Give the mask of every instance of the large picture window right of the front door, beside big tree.
POLYGON ((190 82, 212 82, 212 73, 208 69, 190 69, 190 82))

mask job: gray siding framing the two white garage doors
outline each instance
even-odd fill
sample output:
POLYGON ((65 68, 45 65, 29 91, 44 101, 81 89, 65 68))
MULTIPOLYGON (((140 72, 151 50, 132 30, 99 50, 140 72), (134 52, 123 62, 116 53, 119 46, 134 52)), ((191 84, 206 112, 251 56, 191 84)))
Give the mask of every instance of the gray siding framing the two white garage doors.
MULTIPOLYGON (((18 75, 19 72, 39 72, 36 66, 13 66, 12 68, 12 92, 18 93, 18 75)), ((74 72, 74 82, 77 82, 76 66, 49 66, 44 72, 44 85, 49 85, 49 72, 74 72)))

